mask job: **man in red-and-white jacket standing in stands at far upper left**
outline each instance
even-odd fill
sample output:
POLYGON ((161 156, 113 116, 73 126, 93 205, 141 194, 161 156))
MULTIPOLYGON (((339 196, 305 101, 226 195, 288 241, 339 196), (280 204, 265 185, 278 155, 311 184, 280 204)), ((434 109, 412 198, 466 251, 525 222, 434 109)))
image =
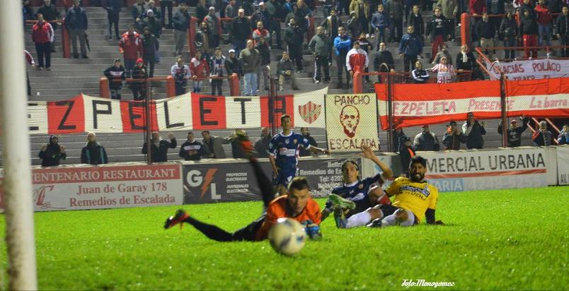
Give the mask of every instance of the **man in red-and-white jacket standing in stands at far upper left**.
POLYGON ((41 71, 44 68, 45 57, 45 71, 51 71, 53 28, 50 23, 43 20, 41 13, 38 13, 38 22, 33 25, 32 40, 39 59, 39 65, 36 70, 41 71))

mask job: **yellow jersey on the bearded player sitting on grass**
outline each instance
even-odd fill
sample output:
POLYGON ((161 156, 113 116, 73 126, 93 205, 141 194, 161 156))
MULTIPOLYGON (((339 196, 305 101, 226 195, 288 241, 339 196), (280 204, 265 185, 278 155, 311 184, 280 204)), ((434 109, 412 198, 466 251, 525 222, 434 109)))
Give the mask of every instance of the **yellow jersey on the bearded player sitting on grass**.
POLYGON ((427 208, 437 209, 439 190, 427 182, 398 177, 385 191, 388 196, 395 196, 393 206, 411 210, 419 222, 425 218, 427 208))

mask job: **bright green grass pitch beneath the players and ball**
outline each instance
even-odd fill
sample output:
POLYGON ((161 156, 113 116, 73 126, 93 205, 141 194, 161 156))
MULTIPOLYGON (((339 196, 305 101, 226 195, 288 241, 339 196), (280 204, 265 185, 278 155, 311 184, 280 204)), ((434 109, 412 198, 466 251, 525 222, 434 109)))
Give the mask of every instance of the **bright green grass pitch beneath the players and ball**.
MULTIPOLYGON (((185 225, 163 230, 178 207, 35 213, 40 290, 433 290, 404 279, 454 282, 436 290, 566 290, 569 186, 443 193, 445 226, 336 229, 295 257, 265 242, 218 243, 185 225)), ((321 205, 323 199, 318 199, 321 205)), ((236 230, 260 202, 183 206, 236 230)), ((4 237, 4 215, 0 233, 4 237)), ((6 288, 6 247, 0 244, 6 288)))

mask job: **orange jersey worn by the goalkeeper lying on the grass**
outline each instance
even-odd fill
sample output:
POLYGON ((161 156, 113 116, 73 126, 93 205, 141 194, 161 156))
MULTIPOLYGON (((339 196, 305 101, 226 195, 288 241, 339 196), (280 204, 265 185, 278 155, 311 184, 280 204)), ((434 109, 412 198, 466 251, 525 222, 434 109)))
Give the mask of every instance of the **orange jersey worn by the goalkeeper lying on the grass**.
POLYGON ((292 218, 298 222, 312 220, 312 222, 320 225, 320 206, 318 206, 318 203, 316 203, 316 201, 314 201, 312 198, 309 198, 309 201, 306 203, 304 210, 302 210, 299 215, 293 217, 289 210, 287 196, 280 196, 278 198, 275 198, 275 200, 270 202, 269 207, 267 208, 267 216, 265 217, 263 225, 261 225, 260 229, 257 232, 257 239, 267 239, 270 227, 272 227, 272 225, 275 225, 275 223, 277 223, 277 219, 279 218, 292 218))

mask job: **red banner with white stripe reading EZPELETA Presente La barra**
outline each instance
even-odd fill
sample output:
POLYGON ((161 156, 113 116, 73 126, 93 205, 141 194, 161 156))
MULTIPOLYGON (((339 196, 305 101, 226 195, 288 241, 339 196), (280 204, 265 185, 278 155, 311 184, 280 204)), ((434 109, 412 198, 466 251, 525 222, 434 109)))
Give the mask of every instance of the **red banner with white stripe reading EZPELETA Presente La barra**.
MULTIPOLYGON (((388 129, 387 88, 376 84, 381 129, 388 129)), ((394 84, 393 122, 396 127, 442 124, 466 119, 501 117, 500 81, 448 84, 394 84)), ((508 116, 569 117, 569 79, 506 82, 508 116)))

